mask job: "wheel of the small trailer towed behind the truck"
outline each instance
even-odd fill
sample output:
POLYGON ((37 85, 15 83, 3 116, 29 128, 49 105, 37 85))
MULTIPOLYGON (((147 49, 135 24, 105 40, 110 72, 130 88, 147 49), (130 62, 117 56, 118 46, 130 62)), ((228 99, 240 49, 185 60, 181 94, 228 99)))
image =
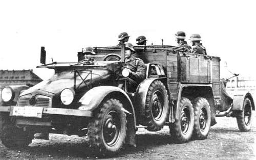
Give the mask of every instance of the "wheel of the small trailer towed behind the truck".
POLYGON ((237 123, 240 131, 249 131, 251 129, 252 121, 252 106, 249 98, 245 98, 243 104, 243 111, 238 113, 237 123))

